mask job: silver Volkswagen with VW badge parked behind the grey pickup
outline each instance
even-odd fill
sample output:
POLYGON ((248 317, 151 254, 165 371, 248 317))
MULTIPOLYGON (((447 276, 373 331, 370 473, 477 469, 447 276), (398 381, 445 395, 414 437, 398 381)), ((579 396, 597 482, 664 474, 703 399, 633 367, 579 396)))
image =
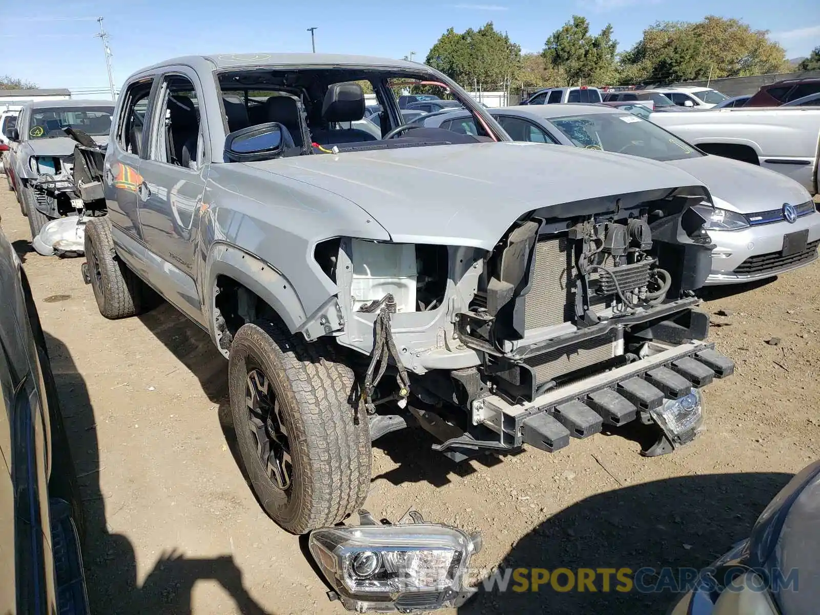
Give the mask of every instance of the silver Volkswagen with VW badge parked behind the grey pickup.
MULTIPOLYGON (((820 214, 809 192, 785 175, 710 156, 639 116, 601 105, 503 107, 490 113, 517 141, 651 158, 704 182, 717 207, 702 210, 717 246, 707 285, 763 280, 818 258, 820 214)), ((477 134, 463 112, 431 113, 418 122, 477 134)))

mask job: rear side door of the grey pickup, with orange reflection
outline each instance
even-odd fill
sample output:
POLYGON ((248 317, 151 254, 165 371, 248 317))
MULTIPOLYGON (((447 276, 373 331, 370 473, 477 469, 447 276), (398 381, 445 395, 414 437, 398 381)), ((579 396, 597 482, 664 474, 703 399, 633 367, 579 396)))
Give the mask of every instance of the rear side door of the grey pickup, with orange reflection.
POLYGON ((137 189, 142 183, 139 176, 140 156, 148 137, 144 126, 148 120, 148 102, 151 98, 153 77, 144 77, 126 84, 117 113, 116 130, 108 144, 103 165, 108 217, 136 239, 143 239, 137 212, 137 189))

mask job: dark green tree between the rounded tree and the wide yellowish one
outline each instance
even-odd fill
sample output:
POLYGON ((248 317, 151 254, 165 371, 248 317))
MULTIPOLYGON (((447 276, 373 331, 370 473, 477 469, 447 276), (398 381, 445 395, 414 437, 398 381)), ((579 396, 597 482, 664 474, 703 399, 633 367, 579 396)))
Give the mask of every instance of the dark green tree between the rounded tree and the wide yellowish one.
POLYGON ((565 85, 604 83, 615 75, 617 40, 607 25, 599 34, 590 34, 585 17, 573 15, 571 21, 555 30, 544 43, 541 56, 555 70, 563 72, 565 85))

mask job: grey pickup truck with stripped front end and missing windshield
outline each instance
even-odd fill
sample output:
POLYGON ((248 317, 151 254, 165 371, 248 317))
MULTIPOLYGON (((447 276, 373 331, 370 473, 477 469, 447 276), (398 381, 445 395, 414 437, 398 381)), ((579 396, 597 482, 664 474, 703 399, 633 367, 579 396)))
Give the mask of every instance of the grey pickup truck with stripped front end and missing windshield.
POLYGON ((711 199, 683 171, 513 143, 413 62, 183 57, 122 92, 86 280, 105 317, 150 287, 212 336, 253 489, 288 531, 361 507, 389 431, 463 459, 642 421, 665 453, 733 371, 704 342, 693 206, 711 199), (351 127, 362 83, 381 139, 351 127), (397 96, 422 87, 479 134, 403 124, 397 96))

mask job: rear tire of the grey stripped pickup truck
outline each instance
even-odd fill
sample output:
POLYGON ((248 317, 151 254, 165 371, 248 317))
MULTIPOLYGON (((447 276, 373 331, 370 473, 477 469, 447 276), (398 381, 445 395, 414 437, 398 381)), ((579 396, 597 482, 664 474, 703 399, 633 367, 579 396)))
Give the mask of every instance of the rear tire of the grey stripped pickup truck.
POLYGON ((92 218, 86 223, 85 258, 94 298, 104 317, 116 320, 144 311, 147 289, 134 271, 116 256, 107 217, 92 218))

